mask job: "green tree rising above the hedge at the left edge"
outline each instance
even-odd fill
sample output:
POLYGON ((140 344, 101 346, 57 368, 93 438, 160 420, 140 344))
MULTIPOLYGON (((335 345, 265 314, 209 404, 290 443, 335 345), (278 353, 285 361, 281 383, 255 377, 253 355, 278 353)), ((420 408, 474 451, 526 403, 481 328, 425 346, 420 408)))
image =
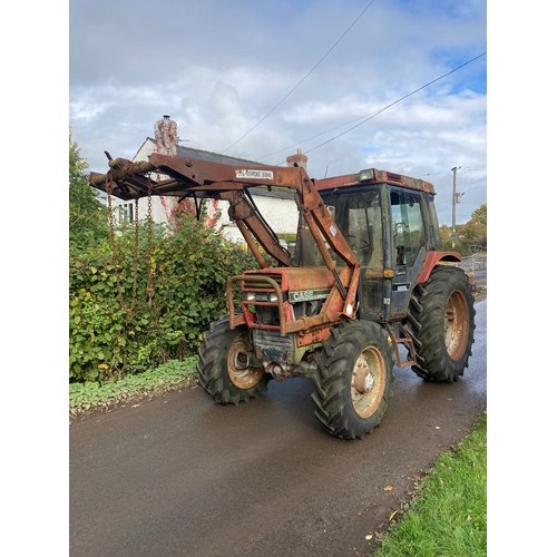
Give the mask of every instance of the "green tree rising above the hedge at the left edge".
POLYGON ((108 238, 108 209, 89 185, 89 164, 69 134, 69 241, 76 246, 108 238))

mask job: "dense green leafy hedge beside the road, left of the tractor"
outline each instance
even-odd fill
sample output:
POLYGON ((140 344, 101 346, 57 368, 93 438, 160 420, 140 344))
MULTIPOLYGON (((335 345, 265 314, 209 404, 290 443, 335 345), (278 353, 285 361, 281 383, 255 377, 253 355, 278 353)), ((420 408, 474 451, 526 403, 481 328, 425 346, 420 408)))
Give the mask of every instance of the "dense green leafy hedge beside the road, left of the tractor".
POLYGON ((150 309, 146 292, 148 228, 140 227, 131 317, 135 231, 116 236, 118 272, 109 238, 90 246, 70 245, 70 382, 114 381, 194 355, 209 323, 226 313, 227 280, 256 267, 255 260, 241 245, 203 229, 187 216, 182 224, 172 236, 153 231, 150 309))

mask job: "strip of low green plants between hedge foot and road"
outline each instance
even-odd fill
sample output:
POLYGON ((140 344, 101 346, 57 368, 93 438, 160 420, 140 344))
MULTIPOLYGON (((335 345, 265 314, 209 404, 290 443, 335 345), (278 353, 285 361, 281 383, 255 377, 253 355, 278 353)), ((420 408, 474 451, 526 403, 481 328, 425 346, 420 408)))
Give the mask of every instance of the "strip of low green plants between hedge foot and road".
POLYGON ((153 371, 128 375, 120 381, 70 383, 69 416, 82 418, 117 404, 157 397, 168 391, 192 387, 197 381, 197 356, 170 360, 153 371))

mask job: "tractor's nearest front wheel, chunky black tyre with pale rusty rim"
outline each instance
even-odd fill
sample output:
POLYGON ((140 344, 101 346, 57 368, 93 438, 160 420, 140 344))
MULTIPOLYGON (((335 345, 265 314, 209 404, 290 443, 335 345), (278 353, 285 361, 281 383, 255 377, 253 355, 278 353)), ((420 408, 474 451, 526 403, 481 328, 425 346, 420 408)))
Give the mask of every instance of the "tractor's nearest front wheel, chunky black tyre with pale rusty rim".
POLYGON ((392 346, 377 323, 342 322, 317 355, 312 400, 332 436, 363 439, 379 426, 392 382, 392 346))

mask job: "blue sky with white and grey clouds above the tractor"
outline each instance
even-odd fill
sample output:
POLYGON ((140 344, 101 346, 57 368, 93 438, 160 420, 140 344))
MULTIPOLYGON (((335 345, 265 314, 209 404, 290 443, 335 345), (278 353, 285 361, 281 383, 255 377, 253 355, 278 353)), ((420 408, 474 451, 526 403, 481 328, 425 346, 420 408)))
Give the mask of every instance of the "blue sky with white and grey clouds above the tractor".
POLYGON ((486 1, 72 0, 69 124, 89 169, 169 115, 182 145, 311 177, 379 168, 487 203, 486 1))

